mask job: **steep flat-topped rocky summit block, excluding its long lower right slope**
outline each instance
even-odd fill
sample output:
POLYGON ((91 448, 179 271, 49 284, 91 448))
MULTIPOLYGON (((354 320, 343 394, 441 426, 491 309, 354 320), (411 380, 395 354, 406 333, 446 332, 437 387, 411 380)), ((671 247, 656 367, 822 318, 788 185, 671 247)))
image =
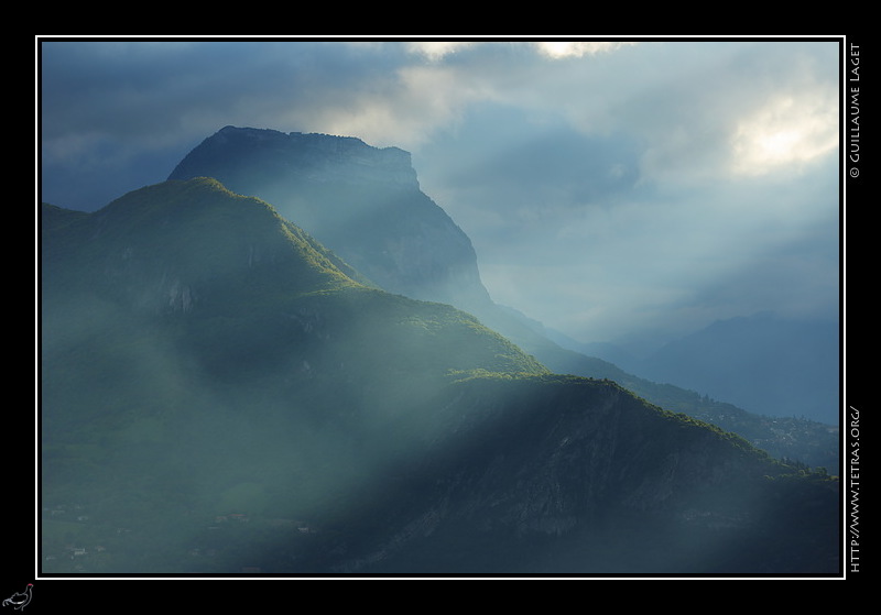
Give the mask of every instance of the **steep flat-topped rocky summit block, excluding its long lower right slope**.
POLYGON ((470 240, 420 190, 403 150, 226 127, 168 178, 197 176, 272 204, 385 290, 463 309, 490 303, 470 240))

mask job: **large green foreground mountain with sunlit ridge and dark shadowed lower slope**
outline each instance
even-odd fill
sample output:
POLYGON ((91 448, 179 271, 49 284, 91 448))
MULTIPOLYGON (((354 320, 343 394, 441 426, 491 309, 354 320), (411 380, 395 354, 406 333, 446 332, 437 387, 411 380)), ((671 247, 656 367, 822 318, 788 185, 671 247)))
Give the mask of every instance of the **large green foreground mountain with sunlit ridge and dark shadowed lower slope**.
POLYGON ((41 573, 835 574, 838 481, 214 179, 43 206, 41 573))

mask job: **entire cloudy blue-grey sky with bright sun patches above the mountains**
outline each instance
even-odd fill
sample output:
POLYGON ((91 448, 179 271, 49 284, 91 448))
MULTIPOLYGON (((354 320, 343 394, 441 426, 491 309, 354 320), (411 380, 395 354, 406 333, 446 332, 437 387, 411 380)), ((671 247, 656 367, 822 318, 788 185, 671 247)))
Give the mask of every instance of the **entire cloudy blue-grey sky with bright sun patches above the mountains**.
POLYGON ((580 341, 838 314, 838 41, 36 52, 40 198, 54 205, 94 210, 162 182, 228 124, 350 135, 410 151, 492 297, 580 341))

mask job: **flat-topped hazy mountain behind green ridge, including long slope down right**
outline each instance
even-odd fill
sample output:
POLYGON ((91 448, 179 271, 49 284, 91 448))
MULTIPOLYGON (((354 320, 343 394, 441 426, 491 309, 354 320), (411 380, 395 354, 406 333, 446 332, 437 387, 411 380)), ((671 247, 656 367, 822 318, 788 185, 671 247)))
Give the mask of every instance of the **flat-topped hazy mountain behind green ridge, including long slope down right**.
POLYGON ((197 176, 271 202, 381 288, 466 310, 554 372, 614 380, 654 404, 761 442, 775 457, 837 472, 837 431, 828 426, 772 424, 732 410, 725 397, 719 399, 729 404, 661 386, 613 361, 564 348, 541 323, 496 305, 480 281, 470 240, 422 193, 402 150, 354 138, 226 127, 185 156, 170 179, 197 176))

